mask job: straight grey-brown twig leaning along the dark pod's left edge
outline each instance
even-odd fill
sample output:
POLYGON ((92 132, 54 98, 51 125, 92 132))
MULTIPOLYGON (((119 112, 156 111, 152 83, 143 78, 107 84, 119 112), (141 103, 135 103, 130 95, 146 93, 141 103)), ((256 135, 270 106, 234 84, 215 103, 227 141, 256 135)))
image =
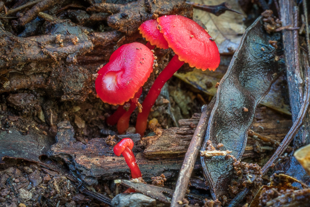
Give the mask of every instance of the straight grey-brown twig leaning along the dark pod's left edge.
POLYGON ((204 105, 202 107, 202 116, 200 117, 199 123, 193 135, 193 139, 191 140, 188 150, 185 154, 185 158, 183 161, 183 165, 180 171, 180 175, 178 181, 175 186, 175 191, 173 193, 171 207, 179 206, 178 201, 182 201, 189 182, 190 175, 193 171, 194 164, 198 155, 198 152, 201 148, 202 141, 204 138, 205 131, 207 129, 208 123, 208 114, 207 114, 207 106, 204 105))

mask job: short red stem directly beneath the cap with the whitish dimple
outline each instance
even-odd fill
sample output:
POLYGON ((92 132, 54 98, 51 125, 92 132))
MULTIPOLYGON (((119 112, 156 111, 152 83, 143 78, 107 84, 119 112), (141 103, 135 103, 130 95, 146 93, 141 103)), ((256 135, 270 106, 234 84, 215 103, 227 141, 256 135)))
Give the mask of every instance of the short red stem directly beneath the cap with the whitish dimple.
POLYGON ((125 133, 125 131, 129 127, 130 115, 136 109, 141 93, 142 93, 142 87, 140 87, 139 91, 135 94, 135 97, 133 97, 130 100, 129 110, 125 111, 124 114, 119 118, 117 122, 117 130, 119 134, 125 133))

